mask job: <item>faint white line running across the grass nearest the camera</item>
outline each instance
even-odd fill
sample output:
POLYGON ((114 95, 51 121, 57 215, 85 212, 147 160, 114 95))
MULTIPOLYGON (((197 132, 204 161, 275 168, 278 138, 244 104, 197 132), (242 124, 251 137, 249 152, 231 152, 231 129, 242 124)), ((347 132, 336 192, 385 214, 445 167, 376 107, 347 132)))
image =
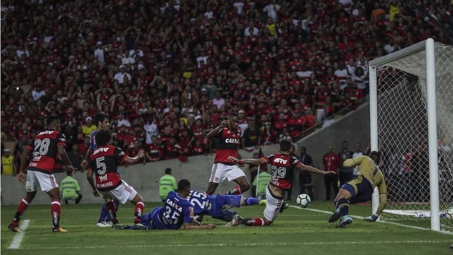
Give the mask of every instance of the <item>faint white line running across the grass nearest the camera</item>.
MULTIPOLYGON (((248 244, 144 244, 118 246, 121 248, 156 248, 156 247, 202 247, 202 246, 280 246, 280 245, 335 245, 335 244, 437 244, 450 243, 449 240, 406 240, 406 241, 372 241, 372 242, 282 242, 282 243, 248 243, 248 244)), ((110 249, 115 246, 42 246, 23 249, 110 249)))

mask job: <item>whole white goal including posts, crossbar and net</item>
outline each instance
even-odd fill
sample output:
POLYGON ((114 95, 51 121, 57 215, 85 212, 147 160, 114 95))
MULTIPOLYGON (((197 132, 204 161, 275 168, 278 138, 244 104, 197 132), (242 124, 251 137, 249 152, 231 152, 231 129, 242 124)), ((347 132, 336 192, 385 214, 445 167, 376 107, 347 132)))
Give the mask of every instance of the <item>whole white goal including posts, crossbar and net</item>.
MULTIPOLYGON (((453 206, 453 47, 430 38, 370 61, 369 108, 389 192, 381 217, 453 229, 440 217, 453 206)), ((377 189, 372 205, 374 213, 377 189)))

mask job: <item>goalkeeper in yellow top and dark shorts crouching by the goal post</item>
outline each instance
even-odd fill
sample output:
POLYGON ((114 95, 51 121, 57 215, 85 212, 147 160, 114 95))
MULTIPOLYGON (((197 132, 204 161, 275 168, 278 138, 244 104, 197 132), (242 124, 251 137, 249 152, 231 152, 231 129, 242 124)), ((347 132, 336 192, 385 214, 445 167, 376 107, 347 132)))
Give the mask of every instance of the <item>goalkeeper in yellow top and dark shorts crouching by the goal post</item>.
POLYGON ((349 216, 349 204, 361 203, 371 200, 374 187, 379 190, 379 207, 372 216, 365 217, 364 220, 374 222, 387 205, 387 188, 384 175, 379 169, 381 156, 379 152, 371 152, 369 156, 360 156, 354 159, 346 159, 343 163, 345 167, 359 166, 358 172, 352 181, 345 183, 338 191, 335 198, 335 212, 328 219, 328 222, 336 222, 340 219, 338 227, 352 223, 349 216))

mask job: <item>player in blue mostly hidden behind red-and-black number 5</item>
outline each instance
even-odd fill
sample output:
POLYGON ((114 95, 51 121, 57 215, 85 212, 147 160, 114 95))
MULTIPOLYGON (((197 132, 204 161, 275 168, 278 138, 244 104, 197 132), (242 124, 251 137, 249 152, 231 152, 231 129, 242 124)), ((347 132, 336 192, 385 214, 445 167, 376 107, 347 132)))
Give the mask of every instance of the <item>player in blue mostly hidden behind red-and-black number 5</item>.
MULTIPOLYGON (((94 152, 95 149, 98 149, 98 145, 96 144, 96 134, 98 131, 103 130, 104 128, 109 128, 110 127, 110 120, 108 119, 108 115, 104 113, 103 111, 99 111, 96 113, 96 116, 94 117, 94 120, 96 121, 96 130, 94 130, 91 133, 91 138, 90 138, 90 147, 86 150, 85 154, 85 160, 81 163, 81 166, 86 169, 86 166, 88 165, 90 155, 92 152, 94 152)), ((120 202, 118 200, 113 200, 115 203, 115 210, 118 210, 120 206, 120 202)), ((110 218, 110 214, 108 213, 107 207, 105 206, 105 201, 102 204, 101 207, 101 212, 99 213, 99 219, 98 222, 96 223, 96 226, 98 227, 111 227, 112 226, 112 219, 110 218)))

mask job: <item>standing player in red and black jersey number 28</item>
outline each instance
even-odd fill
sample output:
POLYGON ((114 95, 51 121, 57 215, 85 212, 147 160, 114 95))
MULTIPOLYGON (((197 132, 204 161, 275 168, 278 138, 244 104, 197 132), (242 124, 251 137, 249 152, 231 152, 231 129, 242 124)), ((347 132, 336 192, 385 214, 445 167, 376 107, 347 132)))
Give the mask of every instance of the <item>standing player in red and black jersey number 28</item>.
POLYGON ((21 203, 19 203, 16 215, 8 226, 8 229, 12 232, 22 232, 19 229, 19 220, 21 220, 23 212, 25 212, 33 198, 35 198, 38 186, 52 200, 50 205, 50 212, 52 212, 52 232, 67 232, 66 229, 59 226, 61 210, 59 190, 57 180, 55 180, 55 176, 52 174, 57 153, 67 164, 67 168, 72 174, 74 174, 75 169, 66 154, 66 137, 60 132, 59 118, 55 115, 50 115, 47 117, 46 123, 47 130, 36 135, 33 138, 33 146, 28 145, 25 147, 21 156, 21 171, 18 174, 18 180, 21 183, 25 183, 26 180, 25 188, 27 194, 21 203), (28 163, 28 156, 30 156, 30 164, 28 164, 28 169, 25 169, 28 163))

